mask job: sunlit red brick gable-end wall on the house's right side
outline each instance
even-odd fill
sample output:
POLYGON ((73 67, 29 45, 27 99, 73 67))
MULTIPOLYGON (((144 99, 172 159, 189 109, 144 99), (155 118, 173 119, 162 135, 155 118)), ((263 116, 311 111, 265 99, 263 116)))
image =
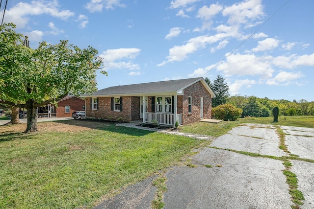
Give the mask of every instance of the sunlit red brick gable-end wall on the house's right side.
POLYGON ((182 123, 193 123, 200 120, 201 97, 203 97, 203 116, 211 118, 211 96, 203 84, 199 81, 183 90, 182 123), (188 113, 188 96, 192 96, 192 113, 188 113))

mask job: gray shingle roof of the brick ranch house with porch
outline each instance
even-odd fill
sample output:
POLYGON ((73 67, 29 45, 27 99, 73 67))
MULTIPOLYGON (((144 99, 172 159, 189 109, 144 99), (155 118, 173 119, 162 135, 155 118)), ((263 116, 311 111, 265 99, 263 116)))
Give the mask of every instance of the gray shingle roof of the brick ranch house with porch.
POLYGON ((124 86, 113 86, 101 89, 90 96, 177 92, 202 79, 203 79, 202 77, 199 77, 151 83, 131 84, 124 86))

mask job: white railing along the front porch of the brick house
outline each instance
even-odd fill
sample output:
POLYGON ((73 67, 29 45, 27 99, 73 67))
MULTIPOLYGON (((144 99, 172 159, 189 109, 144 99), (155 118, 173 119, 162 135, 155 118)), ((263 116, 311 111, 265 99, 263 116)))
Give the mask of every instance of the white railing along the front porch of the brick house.
MULTIPOLYGON (((182 125, 182 114, 177 114, 177 121, 182 125)), ((145 123, 158 122, 160 125, 175 125, 175 115, 165 113, 145 113, 145 123)))

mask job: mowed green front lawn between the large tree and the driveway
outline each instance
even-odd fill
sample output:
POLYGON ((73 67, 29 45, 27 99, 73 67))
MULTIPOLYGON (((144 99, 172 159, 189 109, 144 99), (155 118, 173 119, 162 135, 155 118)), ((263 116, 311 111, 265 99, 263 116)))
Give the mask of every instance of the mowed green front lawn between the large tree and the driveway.
POLYGON ((0 127, 0 208, 91 208, 202 142, 110 123, 74 133, 0 127))

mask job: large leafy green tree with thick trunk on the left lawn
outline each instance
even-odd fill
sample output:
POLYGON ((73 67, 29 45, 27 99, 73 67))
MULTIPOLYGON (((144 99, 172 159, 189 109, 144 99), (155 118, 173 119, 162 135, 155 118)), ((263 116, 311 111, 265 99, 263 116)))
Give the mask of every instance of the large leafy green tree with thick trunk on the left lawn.
POLYGON ((28 48, 14 28, 13 23, 0 26, 0 103, 26 108, 25 132, 34 132, 38 107, 56 103, 69 93, 97 90, 96 70, 103 62, 97 49, 80 49, 68 41, 28 48))

